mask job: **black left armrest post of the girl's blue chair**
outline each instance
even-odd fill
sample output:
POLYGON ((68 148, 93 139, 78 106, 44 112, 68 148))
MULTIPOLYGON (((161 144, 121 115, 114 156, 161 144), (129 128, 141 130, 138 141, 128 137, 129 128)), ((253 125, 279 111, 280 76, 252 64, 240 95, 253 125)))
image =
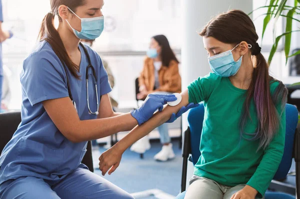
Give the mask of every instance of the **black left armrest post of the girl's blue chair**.
POLYGON ((181 173, 181 190, 180 192, 185 191, 186 187, 186 170, 187 170, 187 159, 191 153, 190 149, 190 130, 189 127, 186 129, 183 135, 183 146, 182 146, 182 173, 181 173))

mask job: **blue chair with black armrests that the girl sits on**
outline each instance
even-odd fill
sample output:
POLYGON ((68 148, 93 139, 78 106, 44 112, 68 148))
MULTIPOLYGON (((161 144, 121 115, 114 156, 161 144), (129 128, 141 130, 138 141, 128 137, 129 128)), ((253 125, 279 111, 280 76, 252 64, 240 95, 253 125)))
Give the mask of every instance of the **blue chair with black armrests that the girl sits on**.
MULTIPOLYGON (((286 133, 285 133, 285 147, 284 153, 279 165, 279 168, 273 178, 271 185, 273 187, 284 187, 292 189, 293 195, 300 197, 299 194, 299 181, 300 181, 300 134, 296 129, 298 122, 298 111, 295 106, 286 104, 286 133), (295 174, 295 188, 289 185, 286 185, 282 182, 282 179, 285 179, 287 173, 292 164, 292 158, 295 159, 296 164, 296 174, 295 174), (279 181, 280 180, 280 181, 279 181), (274 186, 275 185, 275 186, 274 186)), ((184 199, 185 196, 185 187, 186 187, 186 170, 187 170, 187 161, 195 165, 200 157, 199 145, 200 137, 202 132, 202 124, 204 117, 204 106, 200 106, 191 109, 188 114, 188 124, 189 127, 184 132, 184 140, 182 147, 182 177, 181 177, 181 194, 179 194, 176 199, 184 199), (190 156, 191 155, 191 156, 190 156)), ((270 187, 271 187, 270 185, 270 187)), ((279 189, 280 190, 280 189, 279 189)), ((278 191, 276 189, 276 191, 278 191)), ((269 193, 265 194, 265 199, 295 199, 293 196, 284 194, 284 193, 269 193)))

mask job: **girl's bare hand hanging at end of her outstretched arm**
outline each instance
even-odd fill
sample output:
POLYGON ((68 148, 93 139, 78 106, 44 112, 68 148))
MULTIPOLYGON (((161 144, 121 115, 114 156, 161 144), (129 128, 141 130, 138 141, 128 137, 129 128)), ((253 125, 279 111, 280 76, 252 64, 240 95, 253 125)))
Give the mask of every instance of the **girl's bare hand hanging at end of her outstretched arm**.
POLYGON ((108 175, 116 170, 121 162, 123 153, 124 151, 118 149, 117 145, 114 145, 101 154, 99 157, 99 170, 102 172, 102 176, 104 176, 108 170, 108 175))

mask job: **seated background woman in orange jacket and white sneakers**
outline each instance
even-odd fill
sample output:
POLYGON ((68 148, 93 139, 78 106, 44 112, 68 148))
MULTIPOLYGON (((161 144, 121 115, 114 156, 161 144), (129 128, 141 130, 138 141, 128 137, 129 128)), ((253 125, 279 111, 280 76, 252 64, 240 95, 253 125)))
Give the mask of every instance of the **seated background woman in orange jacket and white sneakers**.
MULTIPOLYGON (((139 93, 137 99, 144 100, 148 94, 170 94, 181 92, 181 77, 178 69, 178 59, 172 51, 167 38, 164 35, 156 35, 151 38, 147 57, 144 60, 143 69, 138 78, 139 93)), ((158 127, 160 142, 163 145, 154 160, 167 161, 173 159, 171 139, 168 134, 167 124, 158 127)), ((148 138, 145 137, 132 145, 131 150, 137 153, 143 152, 141 148, 149 149, 148 138)))

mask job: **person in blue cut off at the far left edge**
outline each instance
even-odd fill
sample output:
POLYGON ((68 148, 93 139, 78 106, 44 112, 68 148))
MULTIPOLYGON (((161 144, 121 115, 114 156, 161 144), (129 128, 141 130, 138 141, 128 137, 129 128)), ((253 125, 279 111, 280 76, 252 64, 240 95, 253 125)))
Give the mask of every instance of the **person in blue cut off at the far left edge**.
POLYGON ((5 31, 2 29, 3 13, 2 13, 2 1, 0 0, 0 113, 4 112, 4 105, 1 103, 2 99, 2 83, 3 83, 3 67, 2 67, 2 42, 12 37, 11 31, 5 31))

